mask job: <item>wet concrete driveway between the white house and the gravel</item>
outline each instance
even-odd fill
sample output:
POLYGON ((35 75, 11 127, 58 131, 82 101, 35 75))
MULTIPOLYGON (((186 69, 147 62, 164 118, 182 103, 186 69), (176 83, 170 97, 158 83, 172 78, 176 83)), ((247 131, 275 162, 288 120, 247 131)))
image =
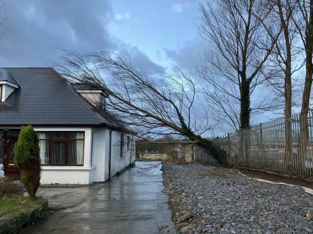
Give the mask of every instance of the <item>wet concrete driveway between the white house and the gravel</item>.
POLYGON ((55 212, 24 234, 174 234, 160 166, 136 162, 79 205, 55 212))

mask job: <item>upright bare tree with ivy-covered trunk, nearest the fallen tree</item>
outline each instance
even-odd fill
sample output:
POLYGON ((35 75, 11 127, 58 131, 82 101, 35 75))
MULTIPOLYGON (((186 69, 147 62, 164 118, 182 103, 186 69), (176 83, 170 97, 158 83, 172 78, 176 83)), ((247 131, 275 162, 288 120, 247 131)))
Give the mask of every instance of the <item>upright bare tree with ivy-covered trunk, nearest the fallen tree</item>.
POLYGON ((274 41, 268 40, 262 23, 253 15, 258 12, 264 19, 269 11, 258 7, 256 0, 200 4, 200 35, 210 42, 197 69, 208 83, 202 86, 202 92, 235 130, 249 128, 252 112, 259 114, 275 108, 264 92, 251 105, 252 93, 265 82, 261 71, 274 47, 274 41), (236 105, 240 106, 240 115, 236 105))

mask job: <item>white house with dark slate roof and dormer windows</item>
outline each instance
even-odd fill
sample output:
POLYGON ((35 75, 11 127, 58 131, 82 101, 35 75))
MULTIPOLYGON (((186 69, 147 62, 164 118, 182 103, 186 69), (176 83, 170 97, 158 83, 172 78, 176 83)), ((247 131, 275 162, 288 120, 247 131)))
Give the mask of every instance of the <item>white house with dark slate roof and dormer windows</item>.
POLYGON ((103 90, 69 85, 53 68, 0 68, 0 162, 20 177, 14 144, 22 125, 40 138, 42 184, 110 179, 134 161, 132 135, 87 101, 105 108, 103 90))

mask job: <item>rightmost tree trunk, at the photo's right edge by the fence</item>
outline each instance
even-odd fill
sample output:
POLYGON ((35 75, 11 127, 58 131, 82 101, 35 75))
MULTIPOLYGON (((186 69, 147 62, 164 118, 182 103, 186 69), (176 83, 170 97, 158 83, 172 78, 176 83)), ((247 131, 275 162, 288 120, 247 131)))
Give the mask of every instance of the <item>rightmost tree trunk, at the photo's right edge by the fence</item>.
POLYGON ((313 54, 313 0, 310 0, 310 19, 307 22, 305 49, 306 49, 306 76, 302 97, 302 107, 300 113, 300 139, 299 139, 299 160, 302 162, 302 168, 305 169, 305 157, 307 153, 307 144, 309 137, 308 112, 310 104, 310 94, 312 87, 312 54, 313 54))

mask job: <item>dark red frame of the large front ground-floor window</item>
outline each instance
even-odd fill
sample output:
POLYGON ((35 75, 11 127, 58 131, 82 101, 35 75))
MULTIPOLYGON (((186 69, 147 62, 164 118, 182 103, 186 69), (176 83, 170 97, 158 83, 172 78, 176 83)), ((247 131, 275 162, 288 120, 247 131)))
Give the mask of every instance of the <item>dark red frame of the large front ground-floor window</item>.
POLYGON ((39 133, 49 133, 49 138, 43 138, 43 139, 39 139, 39 140, 49 140, 49 164, 41 164, 42 166, 84 166, 84 152, 85 152, 85 132, 82 131, 70 131, 70 132, 60 132, 60 131, 54 131, 54 132, 50 132, 50 131, 41 131, 39 133), (81 139, 75 139, 75 138, 69 138, 68 135, 69 133, 83 133, 84 134, 84 138, 81 139), (66 134, 66 137, 54 137, 53 138, 53 134, 66 134), (82 140, 83 143, 83 163, 82 164, 68 164, 68 143, 71 140, 82 140), (66 142, 66 153, 65 153, 65 163, 52 163, 52 145, 53 142, 55 141, 65 141, 66 142))

